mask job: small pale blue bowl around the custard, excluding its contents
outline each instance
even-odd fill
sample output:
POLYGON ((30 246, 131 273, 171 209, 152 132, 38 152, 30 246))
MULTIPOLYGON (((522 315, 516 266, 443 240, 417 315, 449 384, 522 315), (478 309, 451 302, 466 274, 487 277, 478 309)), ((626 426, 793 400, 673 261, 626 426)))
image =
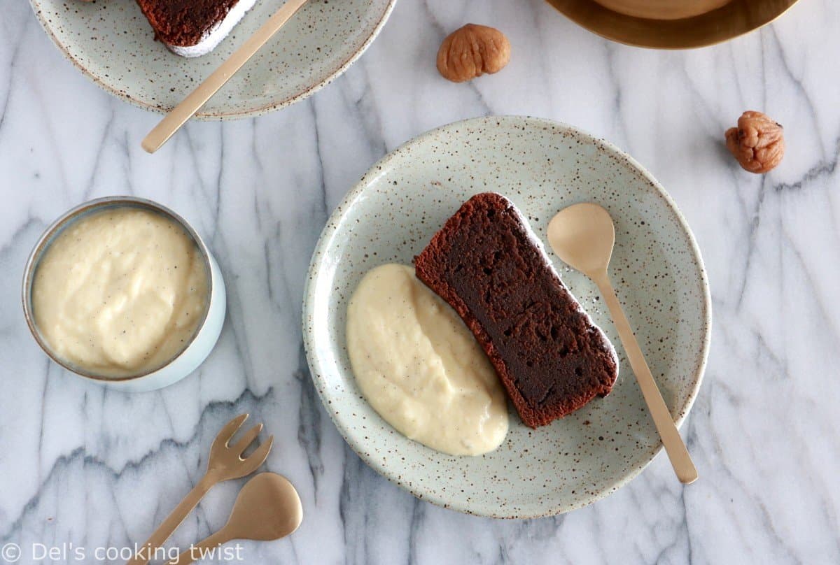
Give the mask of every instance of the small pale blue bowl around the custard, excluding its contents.
POLYGON ((118 390, 128 390, 132 392, 142 392, 146 390, 156 390, 167 385, 172 385, 177 381, 191 374, 198 365, 202 364, 207 355, 213 350, 213 346, 218 341, 219 333, 222 332, 222 324, 224 322, 224 313, 227 307, 227 301, 224 291, 224 280, 222 279, 222 271, 218 268, 216 259, 207 249, 202 238, 198 236, 196 231, 192 229, 189 223, 184 218, 172 212, 169 208, 161 206, 156 202, 145 200, 144 198, 135 198, 134 196, 107 196, 105 198, 97 198, 97 200, 87 201, 63 216, 55 220, 50 228, 47 228, 44 235, 35 244, 32 253, 29 255, 29 260, 26 263, 24 271, 24 316, 26 322, 29 324, 29 330, 32 332, 35 341, 44 352, 62 367, 71 371, 71 373, 79 375, 83 379, 87 379, 97 385, 107 386, 108 388, 118 390), (201 252, 204 259, 204 264, 207 271, 207 292, 209 300, 207 307, 203 313, 201 324, 199 324, 196 333, 193 335, 190 342, 186 345, 181 353, 178 353, 174 358, 165 364, 160 369, 153 371, 131 375, 128 377, 107 377, 99 374, 87 372, 81 367, 76 367, 70 364, 66 359, 60 358, 51 349, 50 345, 46 343, 43 336, 34 321, 34 313, 32 309, 32 283, 34 275, 38 269, 39 260, 43 257, 50 243, 55 237, 71 223, 78 221, 81 217, 86 217, 91 212, 102 210, 109 207, 137 207, 159 213, 173 222, 181 225, 187 234, 196 243, 198 250, 201 252))

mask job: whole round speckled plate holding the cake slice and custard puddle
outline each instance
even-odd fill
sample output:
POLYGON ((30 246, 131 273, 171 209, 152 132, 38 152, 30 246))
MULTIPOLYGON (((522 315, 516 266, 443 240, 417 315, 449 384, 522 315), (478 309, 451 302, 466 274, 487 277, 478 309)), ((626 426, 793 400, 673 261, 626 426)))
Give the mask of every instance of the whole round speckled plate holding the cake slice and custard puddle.
MULTIPOLYGON (((685 219, 627 154, 575 128, 536 118, 478 118, 413 139, 373 166, 333 212, 304 303, 312 379, 335 425, 376 471, 423 500, 478 515, 533 517, 580 508, 633 479, 661 449, 653 421, 595 285, 552 257, 616 344, 612 394, 530 430, 511 410, 507 440, 482 457, 412 442, 355 385, 344 324, 355 286, 376 265, 410 264, 470 196, 501 192, 545 239, 561 208, 595 201, 616 222, 611 275, 676 421, 700 387, 711 330, 706 273, 685 219)), ((676 479, 674 479, 676 481, 676 479)))

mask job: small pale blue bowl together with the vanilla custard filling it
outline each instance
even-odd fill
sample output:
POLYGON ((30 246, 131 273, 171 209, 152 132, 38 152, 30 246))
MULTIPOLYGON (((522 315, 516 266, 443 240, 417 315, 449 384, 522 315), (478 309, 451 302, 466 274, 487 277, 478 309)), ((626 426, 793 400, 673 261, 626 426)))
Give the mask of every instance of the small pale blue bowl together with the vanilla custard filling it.
POLYGON ((88 379, 152 390, 186 376, 221 331, 218 265, 181 217, 112 197, 68 212, 36 245, 24 313, 39 345, 88 379))

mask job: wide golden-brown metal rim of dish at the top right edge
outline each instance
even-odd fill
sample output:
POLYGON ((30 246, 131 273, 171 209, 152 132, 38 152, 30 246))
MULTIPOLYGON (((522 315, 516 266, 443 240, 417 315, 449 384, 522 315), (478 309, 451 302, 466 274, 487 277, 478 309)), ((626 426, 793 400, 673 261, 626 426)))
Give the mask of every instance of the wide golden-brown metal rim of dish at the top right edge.
POLYGON ((596 0, 546 0, 559 13, 593 34, 633 47, 679 50, 707 47, 770 24, 798 0, 732 0, 692 18, 634 18, 596 0))

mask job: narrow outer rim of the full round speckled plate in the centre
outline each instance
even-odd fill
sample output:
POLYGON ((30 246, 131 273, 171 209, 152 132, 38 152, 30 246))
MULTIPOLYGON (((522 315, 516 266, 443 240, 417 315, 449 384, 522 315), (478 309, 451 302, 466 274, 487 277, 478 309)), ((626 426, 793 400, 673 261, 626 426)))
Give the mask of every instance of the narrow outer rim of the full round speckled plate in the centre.
POLYGON ((312 291, 315 286, 313 284, 313 281, 318 277, 318 271, 320 269, 319 258, 323 257, 324 251, 328 247, 328 244, 333 239, 336 230, 341 224, 340 217, 344 216, 344 214, 347 213, 349 208, 353 206, 354 201, 357 201, 361 197, 364 197, 365 191, 367 190, 367 186, 376 176, 381 175, 381 170, 387 166, 389 161, 395 159, 396 155, 412 151, 412 149, 414 149, 417 145, 422 145, 430 140, 436 139, 438 136, 440 136, 443 133, 446 133, 450 129, 488 129, 498 128, 500 126, 510 126, 514 123, 516 123, 519 128, 522 128, 522 126, 524 125, 533 128, 550 128, 553 130, 558 130, 560 132, 570 133, 571 135, 574 135, 575 137, 581 139, 585 143, 592 144, 598 149, 606 150, 607 152, 617 155, 622 160, 625 160, 628 165, 633 167, 633 169, 637 170, 638 173, 642 175, 645 180, 647 180, 648 184, 656 190, 656 193, 664 201, 666 207, 673 214, 673 217, 675 217, 675 220, 678 222, 683 233, 685 233, 685 238, 688 240, 688 243, 690 245, 691 257, 694 261, 696 271, 699 276, 699 280, 697 282, 701 288, 703 295, 701 321, 703 331, 703 342, 701 344, 701 353, 696 361, 696 366, 694 370, 694 384, 691 387, 691 390, 689 392, 688 397, 685 400, 685 403, 680 406, 678 416, 675 420, 676 425, 678 427, 681 426, 683 421, 685 421, 685 417, 688 416, 688 413, 691 410, 691 406, 694 405, 694 401, 696 400, 697 394, 700 391, 701 382, 703 380, 703 374, 706 371, 706 362, 708 360, 709 348, 711 344, 711 291, 709 290, 709 280, 708 276, 706 275, 706 267, 703 264, 700 248, 697 246, 694 234, 691 233, 691 229, 688 226, 688 222, 685 221, 685 217, 683 217, 682 212, 680 212, 680 209, 677 207, 675 201, 664 190, 663 186, 659 184, 659 181, 654 179, 654 176, 651 175, 647 170, 645 170, 642 165, 639 165, 638 161, 634 160, 633 157, 624 153, 621 149, 618 149, 615 145, 611 144, 610 142, 604 139, 598 139, 590 135, 589 133, 582 132, 580 131, 580 129, 574 128, 564 123, 554 122, 545 118, 533 118, 529 116, 488 116, 484 118, 465 119, 459 122, 449 123, 447 125, 441 126, 439 128, 434 128, 426 133, 423 133, 417 136, 416 138, 407 141, 405 144, 402 144, 400 147, 391 151, 391 153, 387 154, 381 160, 377 161, 375 165, 372 165, 370 167, 370 170, 368 170, 368 172, 365 173, 364 176, 362 176, 361 180, 359 180, 359 182, 356 183, 353 189, 351 189, 347 193, 347 195, 344 196, 344 200, 341 201, 339 206, 336 207, 336 209, 330 215, 327 224, 323 229, 323 232, 321 233, 321 237, 318 238, 318 244, 316 245, 315 250, 312 253, 312 261, 309 265, 309 271, 307 273, 307 282, 306 288, 304 290, 302 309, 302 324, 303 345, 306 349, 309 369, 312 373, 312 380, 314 381, 315 389, 318 390, 318 396, 321 398, 324 407, 328 408, 327 413, 329 414, 330 419, 333 421, 333 424, 335 424, 335 426, 339 429, 339 432, 341 433, 342 437, 344 437, 344 441, 346 441, 349 444, 353 451, 365 463, 367 463, 370 466, 370 468, 373 468, 377 473, 380 473, 392 484, 396 484, 396 486, 401 487, 402 489, 406 489, 418 499, 427 500, 428 502, 431 502, 434 505, 442 506, 450 510, 458 510, 459 512, 464 512, 465 514, 471 515, 481 515, 491 518, 525 519, 542 518, 544 516, 563 514, 564 512, 568 512, 570 510, 577 510, 585 506, 591 505, 593 502, 605 498, 607 495, 614 493, 622 486, 635 479, 638 476, 638 474, 641 473, 644 470, 644 468, 646 468, 648 464, 650 464, 650 462, 652 462, 654 458, 663 450, 662 444, 659 443, 656 447, 652 447, 648 451, 647 457, 645 458, 643 463, 638 464, 636 467, 629 469, 629 471, 624 476, 620 477, 612 484, 606 485, 596 494, 592 494, 589 498, 580 502, 555 505, 554 507, 550 508, 545 512, 536 514, 511 515, 503 513, 475 512, 473 510, 470 510, 470 508, 466 507, 465 505, 452 504, 449 500, 446 500, 444 496, 438 494, 437 492, 425 489, 418 489, 413 484, 406 484, 406 482, 402 481, 398 477, 393 476, 390 473, 390 471, 387 468, 385 468, 384 464, 381 463, 380 460, 378 460, 377 458, 370 457, 365 453, 365 446, 362 445, 361 442, 357 442, 354 439, 354 436, 349 432, 348 427, 345 426, 344 422, 341 421, 334 413, 334 406, 329 406, 327 401, 328 399, 324 397, 323 378, 321 377, 321 374, 323 374, 325 371, 321 366, 321 359, 314 354, 315 336, 312 332, 312 324, 310 322, 313 318, 313 309, 315 302, 312 296, 312 291))

